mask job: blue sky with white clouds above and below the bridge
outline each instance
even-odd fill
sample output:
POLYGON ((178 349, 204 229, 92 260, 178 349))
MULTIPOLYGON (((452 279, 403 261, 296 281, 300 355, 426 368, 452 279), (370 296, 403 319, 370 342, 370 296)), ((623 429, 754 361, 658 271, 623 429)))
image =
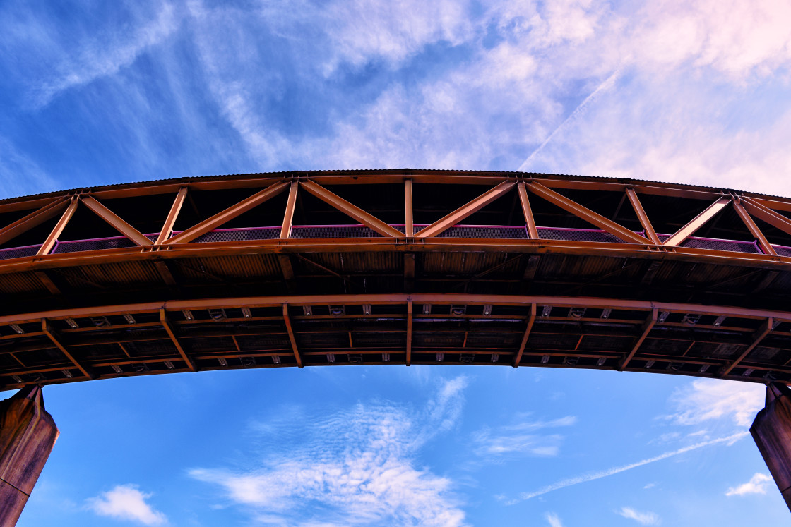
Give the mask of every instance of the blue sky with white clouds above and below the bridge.
MULTIPOLYGON (((788 2, 0 4, 0 197, 445 168, 791 194, 788 2)), ((748 525, 761 386, 520 368, 52 386, 19 525, 748 525)))

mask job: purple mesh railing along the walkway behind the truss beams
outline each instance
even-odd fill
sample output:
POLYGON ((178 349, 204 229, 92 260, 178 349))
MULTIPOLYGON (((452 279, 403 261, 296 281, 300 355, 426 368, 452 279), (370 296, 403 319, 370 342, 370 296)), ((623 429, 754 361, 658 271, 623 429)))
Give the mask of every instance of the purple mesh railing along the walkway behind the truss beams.
MULTIPOLYGON (((392 224, 399 232, 406 232, 404 224, 392 224)), ((414 232, 420 232, 428 227, 428 224, 414 224, 414 232)), ((212 243, 212 242, 234 242, 245 240, 278 239, 280 237, 280 226, 273 227, 252 227, 252 228, 226 228, 215 229, 199 236, 192 243, 212 243)), ((626 243, 624 240, 601 229, 581 229, 581 228, 559 228, 559 227, 539 227, 537 228, 539 239, 565 240, 580 242, 599 242, 599 243, 626 243)), ((182 231, 174 231, 173 235, 180 234, 182 231)), ((644 232, 636 234, 645 235, 644 232)), ((146 238, 152 242, 157 239, 158 234, 147 234, 146 238)), ((664 242, 671 235, 657 234, 661 242, 664 242)), ((293 239, 317 239, 317 238, 381 238, 382 236, 373 229, 365 225, 293 225, 291 228, 291 238, 293 239)), ((477 239, 528 239, 527 228, 521 225, 454 225, 445 230, 438 238, 477 238, 477 239)), ((9 247, 0 249, 0 260, 11 258, 25 258, 34 256, 41 245, 28 245, 25 247, 9 247)), ((135 247, 134 243, 125 236, 112 236, 109 238, 97 239, 77 239, 59 241, 55 243, 53 254, 74 253, 79 251, 119 249, 124 247, 135 247)), ((725 250, 731 252, 763 254, 757 241, 747 242, 730 239, 713 239, 691 236, 681 243, 680 247, 692 247, 696 249, 725 250)), ((780 256, 791 257, 791 247, 773 245, 774 250, 780 256)))

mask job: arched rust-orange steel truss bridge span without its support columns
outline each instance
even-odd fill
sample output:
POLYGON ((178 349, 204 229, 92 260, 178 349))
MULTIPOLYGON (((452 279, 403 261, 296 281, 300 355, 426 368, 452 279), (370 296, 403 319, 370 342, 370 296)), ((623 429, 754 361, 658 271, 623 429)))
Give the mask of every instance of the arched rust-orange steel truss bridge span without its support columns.
POLYGON ((791 199, 472 171, 0 201, 0 387, 243 367, 791 381, 791 199))

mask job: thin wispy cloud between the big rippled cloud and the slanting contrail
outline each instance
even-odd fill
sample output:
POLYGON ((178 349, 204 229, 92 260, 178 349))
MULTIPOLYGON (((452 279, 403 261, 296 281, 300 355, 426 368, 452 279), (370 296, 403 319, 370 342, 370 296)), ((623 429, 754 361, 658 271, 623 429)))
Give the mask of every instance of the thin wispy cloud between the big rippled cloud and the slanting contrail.
POLYGON ((568 427, 577 423, 574 416, 550 421, 520 421, 491 431, 488 427, 475 432, 475 451, 483 457, 503 455, 556 456, 563 436, 537 434, 544 428, 568 427))

